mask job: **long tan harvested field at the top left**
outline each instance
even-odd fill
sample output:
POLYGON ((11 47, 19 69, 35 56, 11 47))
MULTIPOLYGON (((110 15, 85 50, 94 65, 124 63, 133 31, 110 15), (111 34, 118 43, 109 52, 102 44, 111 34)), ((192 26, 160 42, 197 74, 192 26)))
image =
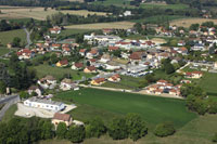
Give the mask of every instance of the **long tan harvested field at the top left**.
POLYGON ((44 11, 44 8, 8 8, 8 9, 3 9, 0 8, 2 14, 0 14, 0 18, 35 18, 35 19, 39 19, 39 21, 44 21, 47 18, 47 16, 55 14, 55 13, 68 13, 68 14, 74 14, 74 15, 81 15, 81 16, 87 16, 88 14, 93 15, 106 15, 106 13, 103 12, 89 12, 86 10, 79 10, 79 11, 56 11, 56 10, 52 10, 52 9, 48 9, 47 11, 44 11))

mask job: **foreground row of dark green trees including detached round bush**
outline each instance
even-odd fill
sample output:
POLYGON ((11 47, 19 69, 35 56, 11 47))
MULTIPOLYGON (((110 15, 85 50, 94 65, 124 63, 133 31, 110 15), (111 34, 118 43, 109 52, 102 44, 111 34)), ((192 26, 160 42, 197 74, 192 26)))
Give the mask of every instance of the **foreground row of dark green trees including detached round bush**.
MULTIPOLYGON (((106 133, 113 140, 129 138, 137 141, 148 134, 148 125, 137 114, 114 118, 107 126, 101 118, 93 118, 88 120, 85 126, 66 127, 64 122, 60 122, 56 128, 48 119, 14 117, 8 122, 1 122, 0 128, 1 144, 31 144, 48 139, 65 139, 73 143, 80 143, 85 139, 100 138, 106 133)), ((154 134, 161 138, 171 135, 175 132, 171 122, 159 123, 154 129, 154 134)))

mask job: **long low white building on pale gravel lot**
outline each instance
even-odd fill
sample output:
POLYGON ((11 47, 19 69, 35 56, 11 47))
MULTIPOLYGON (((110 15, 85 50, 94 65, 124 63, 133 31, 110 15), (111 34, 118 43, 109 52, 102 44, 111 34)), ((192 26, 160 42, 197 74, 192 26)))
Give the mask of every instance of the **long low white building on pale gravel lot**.
POLYGON ((37 99, 35 96, 24 101, 24 105, 29 106, 29 107, 35 107, 35 108, 53 110, 53 112, 60 112, 65 108, 64 103, 54 102, 54 101, 46 100, 46 99, 37 99))

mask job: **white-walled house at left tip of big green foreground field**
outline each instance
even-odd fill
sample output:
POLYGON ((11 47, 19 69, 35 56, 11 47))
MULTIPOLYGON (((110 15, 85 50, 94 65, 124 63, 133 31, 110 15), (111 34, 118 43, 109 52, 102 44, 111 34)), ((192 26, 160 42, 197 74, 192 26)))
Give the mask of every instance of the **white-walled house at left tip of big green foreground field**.
POLYGON ((67 78, 65 78, 61 81, 60 89, 63 91, 79 90, 77 84, 74 83, 72 79, 67 79, 67 78))

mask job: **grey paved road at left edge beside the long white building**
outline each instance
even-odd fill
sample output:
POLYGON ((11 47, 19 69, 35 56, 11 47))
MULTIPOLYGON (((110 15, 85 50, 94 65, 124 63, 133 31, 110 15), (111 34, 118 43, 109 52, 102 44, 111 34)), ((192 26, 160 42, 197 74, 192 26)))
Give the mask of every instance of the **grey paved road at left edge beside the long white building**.
POLYGON ((0 110, 0 121, 3 118, 5 112, 13 105, 20 102, 20 96, 18 95, 11 95, 4 99, 0 99, 0 104, 5 103, 3 108, 0 110))

